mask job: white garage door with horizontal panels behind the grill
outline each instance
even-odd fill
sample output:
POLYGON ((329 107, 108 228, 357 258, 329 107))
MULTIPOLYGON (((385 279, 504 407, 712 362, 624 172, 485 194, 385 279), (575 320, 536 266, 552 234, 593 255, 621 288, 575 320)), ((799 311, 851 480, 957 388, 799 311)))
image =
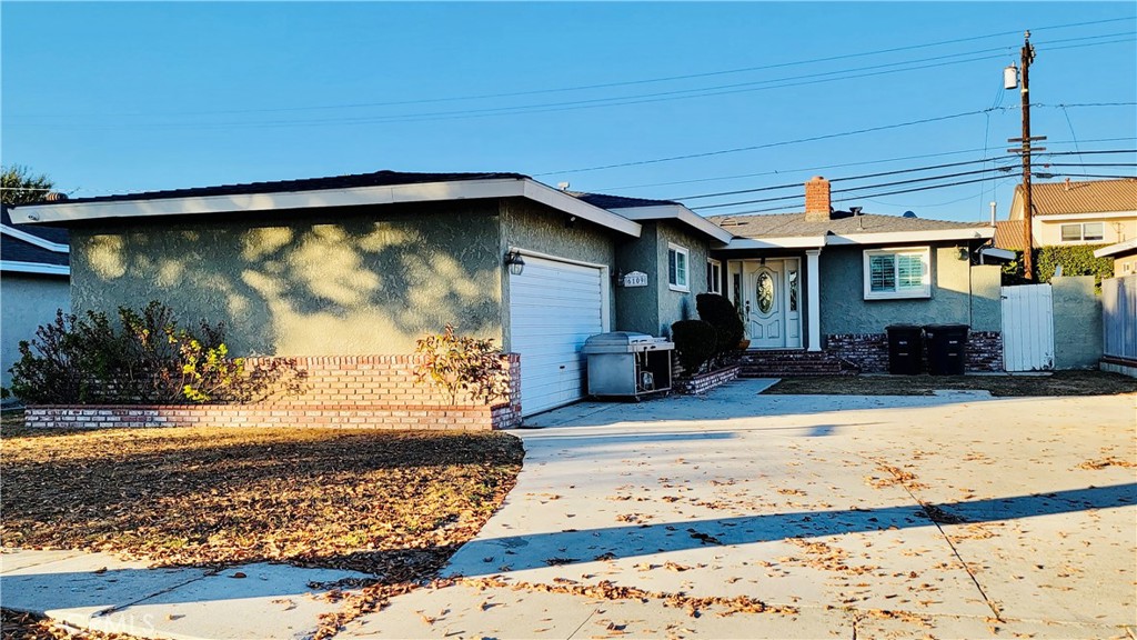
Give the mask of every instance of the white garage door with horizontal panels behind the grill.
POLYGON ((600 269, 525 256, 509 276, 511 351, 521 354, 525 416, 580 400, 587 361, 580 350, 604 333, 600 269))

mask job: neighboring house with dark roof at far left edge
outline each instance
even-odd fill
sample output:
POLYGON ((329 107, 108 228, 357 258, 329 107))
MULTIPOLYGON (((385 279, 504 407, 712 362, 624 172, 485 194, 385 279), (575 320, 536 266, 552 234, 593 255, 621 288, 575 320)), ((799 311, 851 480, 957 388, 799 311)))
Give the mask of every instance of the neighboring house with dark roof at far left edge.
POLYGON ((20 340, 30 340, 56 311, 70 309, 67 230, 14 224, 0 207, 0 384, 19 360, 20 340))

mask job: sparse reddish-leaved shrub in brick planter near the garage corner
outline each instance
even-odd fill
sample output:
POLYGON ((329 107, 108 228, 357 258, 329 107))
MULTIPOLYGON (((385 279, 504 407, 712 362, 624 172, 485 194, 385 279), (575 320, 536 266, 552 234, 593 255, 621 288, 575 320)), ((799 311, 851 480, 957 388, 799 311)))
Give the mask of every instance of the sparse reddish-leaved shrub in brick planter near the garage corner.
POLYGON ((415 353, 423 356, 418 380, 445 389, 451 404, 459 393, 487 404, 509 395, 509 368, 492 338, 458 336, 448 323, 441 334, 420 339, 415 353))

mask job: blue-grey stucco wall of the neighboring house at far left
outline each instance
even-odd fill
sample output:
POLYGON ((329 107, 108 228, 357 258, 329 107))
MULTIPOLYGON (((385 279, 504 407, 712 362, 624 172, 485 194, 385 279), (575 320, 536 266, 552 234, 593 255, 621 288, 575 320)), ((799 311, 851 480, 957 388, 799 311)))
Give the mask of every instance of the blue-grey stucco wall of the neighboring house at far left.
POLYGON ((67 277, 36 273, 0 274, 0 385, 11 385, 8 369, 19 360, 19 342, 31 340, 40 325, 55 320, 56 311, 70 311, 67 277))

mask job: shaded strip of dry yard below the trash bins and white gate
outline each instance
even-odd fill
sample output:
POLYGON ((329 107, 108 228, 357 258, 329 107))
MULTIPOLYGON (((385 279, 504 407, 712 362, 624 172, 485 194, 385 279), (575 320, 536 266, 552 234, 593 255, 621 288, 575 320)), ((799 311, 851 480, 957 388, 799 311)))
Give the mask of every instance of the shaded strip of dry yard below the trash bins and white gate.
POLYGON ((982 376, 816 376, 782 378, 764 393, 785 395, 932 395, 933 389, 987 391, 994 396, 1137 393, 1137 379, 1107 371, 982 376))

